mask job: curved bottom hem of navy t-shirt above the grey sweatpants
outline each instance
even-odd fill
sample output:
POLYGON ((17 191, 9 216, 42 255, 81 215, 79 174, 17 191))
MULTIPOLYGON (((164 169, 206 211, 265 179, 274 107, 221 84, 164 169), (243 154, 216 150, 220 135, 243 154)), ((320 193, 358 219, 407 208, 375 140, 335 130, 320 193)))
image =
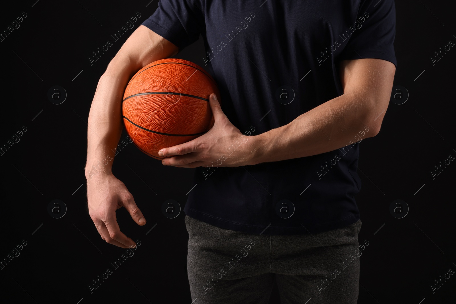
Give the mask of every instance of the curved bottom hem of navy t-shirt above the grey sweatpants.
POLYGON ((220 227, 223 229, 229 229, 234 231, 240 231, 251 234, 264 234, 264 235, 296 235, 296 234, 308 234, 330 231, 338 228, 347 227, 353 223, 359 221, 359 214, 349 214, 344 218, 332 221, 324 222, 313 225, 306 225, 305 227, 299 225, 295 227, 278 227, 278 226, 264 226, 264 225, 250 225, 230 220, 225 220, 217 216, 197 211, 191 207, 184 209, 187 216, 190 216, 198 221, 206 222, 209 225, 220 227))

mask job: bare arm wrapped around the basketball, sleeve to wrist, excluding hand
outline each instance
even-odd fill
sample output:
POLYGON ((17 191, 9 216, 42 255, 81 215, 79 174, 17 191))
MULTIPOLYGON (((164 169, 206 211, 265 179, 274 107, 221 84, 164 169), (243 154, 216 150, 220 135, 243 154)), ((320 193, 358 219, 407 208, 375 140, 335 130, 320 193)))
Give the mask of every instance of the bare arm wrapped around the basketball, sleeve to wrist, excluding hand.
POLYGON ((111 173, 115 148, 124 127, 121 105, 128 81, 141 67, 177 52, 177 46, 141 25, 109 62, 98 81, 88 117, 87 179, 100 172, 111 173))

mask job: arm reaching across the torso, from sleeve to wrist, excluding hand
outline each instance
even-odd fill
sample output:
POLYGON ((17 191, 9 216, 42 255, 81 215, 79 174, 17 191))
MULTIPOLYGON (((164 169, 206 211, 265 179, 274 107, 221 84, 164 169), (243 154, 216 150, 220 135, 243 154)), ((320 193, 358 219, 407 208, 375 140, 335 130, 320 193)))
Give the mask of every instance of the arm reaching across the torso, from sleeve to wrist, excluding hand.
POLYGON ((395 72, 394 64, 382 59, 341 62, 343 94, 289 124, 253 136, 249 164, 317 155, 377 135, 395 72))

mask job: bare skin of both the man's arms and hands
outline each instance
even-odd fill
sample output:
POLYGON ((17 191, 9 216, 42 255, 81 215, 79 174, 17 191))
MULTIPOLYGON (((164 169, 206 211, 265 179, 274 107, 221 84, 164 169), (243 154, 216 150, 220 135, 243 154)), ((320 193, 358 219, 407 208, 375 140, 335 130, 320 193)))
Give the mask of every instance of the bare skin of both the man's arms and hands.
MULTIPOLYGON (((115 211, 121 207, 140 226, 146 224, 133 195, 112 173, 115 147, 124 127, 121 101, 130 78, 140 68, 178 52, 165 38, 139 26, 125 41, 100 77, 88 117, 85 175, 88 211, 101 238, 122 248, 135 242, 120 231, 115 211)), ((355 140, 365 126, 364 138, 378 134, 393 87, 394 64, 380 59, 346 60, 340 64, 343 94, 327 101, 280 128, 245 136, 230 123, 220 104, 210 95, 215 124, 206 134, 185 144, 162 149, 176 155, 164 165, 194 168, 212 165, 220 155, 234 152, 219 166, 237 167, 287 160, 332 151, 355 140)))

